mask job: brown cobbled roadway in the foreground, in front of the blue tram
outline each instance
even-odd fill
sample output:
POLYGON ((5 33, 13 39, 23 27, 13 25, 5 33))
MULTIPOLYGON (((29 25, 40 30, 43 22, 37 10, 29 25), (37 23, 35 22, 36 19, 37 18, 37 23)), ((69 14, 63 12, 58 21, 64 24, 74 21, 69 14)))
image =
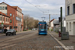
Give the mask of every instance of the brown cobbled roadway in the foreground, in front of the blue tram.
MULTIPOLYGON (((22 38, 18 37, 15 40, 6 41, 6 45, 0 46, 1 49, 5 50, 54 50, 54 46, 60 46, 48 33, 47 35, 38 35, 38 33, 30 32, 29 34, 23 35, 22 38), (11 43, 8 43, 11 42, 11 43)), ((58 49, 59 50, 59 49, 58 49)), ((62 50, 60 48, 60 50, 62 50)))

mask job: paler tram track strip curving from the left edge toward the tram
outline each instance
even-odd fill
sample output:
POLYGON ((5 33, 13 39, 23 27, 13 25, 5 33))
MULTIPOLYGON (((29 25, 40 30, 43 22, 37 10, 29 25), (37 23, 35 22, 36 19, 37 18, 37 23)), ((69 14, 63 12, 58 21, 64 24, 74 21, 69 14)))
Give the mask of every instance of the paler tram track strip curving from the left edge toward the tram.
POLYGON ((28 38, 28 37, 30 37, 30 36, 32 36, 32 35, 35 35, 35 33, 27 33, 27 34, 23 34, 23 35, 21 35, 21 36, 18 36, 18 37, 16 37, 15 39, 13 38, 13 39, 8 39, 7 41, 6 40, 4 40, 4 41, 1 41, 0 42, 0 44, 2 44, 2 45, 0 45, 0 48, 4 48, 4 47, 9 47, 9 46, 13 46, 13 45, 16 45, 18 42, 21 42, 21 41, 23 41, 25 38, 28 38), (10 43, 9 43, 10 42, 10 43), (5 45, 4 45, 5 44, 5 45))

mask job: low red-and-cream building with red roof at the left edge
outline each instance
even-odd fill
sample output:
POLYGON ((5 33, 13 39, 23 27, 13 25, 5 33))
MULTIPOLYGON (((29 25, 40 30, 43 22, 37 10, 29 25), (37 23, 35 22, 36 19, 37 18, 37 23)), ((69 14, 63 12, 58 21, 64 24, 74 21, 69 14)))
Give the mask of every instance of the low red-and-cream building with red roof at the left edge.
POLYGON ((0 29, 7 28, 10 26, 10 17, 0 12, 0 29))

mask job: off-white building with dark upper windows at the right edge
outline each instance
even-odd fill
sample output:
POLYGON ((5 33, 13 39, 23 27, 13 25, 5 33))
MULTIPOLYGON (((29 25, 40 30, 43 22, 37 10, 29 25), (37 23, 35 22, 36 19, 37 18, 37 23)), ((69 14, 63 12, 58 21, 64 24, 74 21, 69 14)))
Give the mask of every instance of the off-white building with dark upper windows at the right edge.
POLYGON ((75 0, 65 0, 66 31, 75 35, 75 0))

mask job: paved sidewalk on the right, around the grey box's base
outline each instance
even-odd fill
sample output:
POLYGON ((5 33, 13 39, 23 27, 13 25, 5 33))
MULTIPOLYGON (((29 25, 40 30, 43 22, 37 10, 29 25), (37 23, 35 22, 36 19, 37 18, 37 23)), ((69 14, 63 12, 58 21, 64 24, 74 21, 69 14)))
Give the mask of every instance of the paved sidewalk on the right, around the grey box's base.
POLYGON ((69 40, 61 40, 61 37, 58 36, 58 33, 50 32, 50 34, 53 35, 56 39, 58 39, 65 46, 73 46, 75 50, 75 35, 70 35, 69 40))

